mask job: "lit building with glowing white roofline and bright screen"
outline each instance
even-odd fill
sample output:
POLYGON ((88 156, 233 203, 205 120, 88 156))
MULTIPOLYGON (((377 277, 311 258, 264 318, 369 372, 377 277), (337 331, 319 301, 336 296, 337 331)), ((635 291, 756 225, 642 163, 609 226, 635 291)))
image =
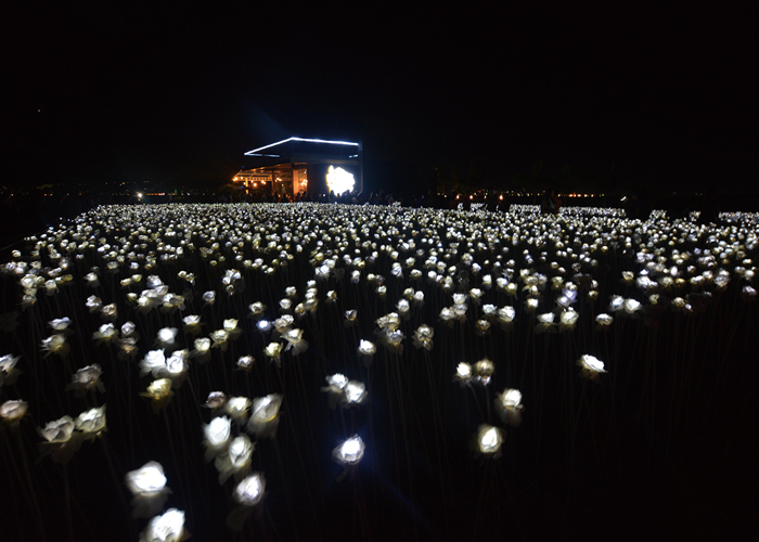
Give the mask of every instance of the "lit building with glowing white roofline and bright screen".
POLYGON ((234 183, 248 194, 293 197, 363 190, 361 144, 350 141, 288 138, 245 153, 250 167, 241 169, 234 183))

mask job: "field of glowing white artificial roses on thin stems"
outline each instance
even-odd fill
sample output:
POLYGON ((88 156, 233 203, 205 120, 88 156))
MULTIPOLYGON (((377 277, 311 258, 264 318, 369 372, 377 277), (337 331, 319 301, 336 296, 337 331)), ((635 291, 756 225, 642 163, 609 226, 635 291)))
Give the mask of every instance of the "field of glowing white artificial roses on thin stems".
POLYGON ((110 206, 25 240, 3 539, 743 532, 757 216, 622 215, 110 206))

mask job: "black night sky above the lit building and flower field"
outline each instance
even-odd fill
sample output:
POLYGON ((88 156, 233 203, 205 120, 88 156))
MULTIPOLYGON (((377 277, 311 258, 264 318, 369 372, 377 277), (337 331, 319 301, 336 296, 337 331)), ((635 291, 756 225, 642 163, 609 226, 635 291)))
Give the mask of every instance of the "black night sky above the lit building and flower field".
POLYGON ((374 185, 388 163, 500 185, 539 158, 673 190, 756 177, 748 13, 74 4, 3 17, 3 184, 224 181, 290 136, 361 139, 374 185))

